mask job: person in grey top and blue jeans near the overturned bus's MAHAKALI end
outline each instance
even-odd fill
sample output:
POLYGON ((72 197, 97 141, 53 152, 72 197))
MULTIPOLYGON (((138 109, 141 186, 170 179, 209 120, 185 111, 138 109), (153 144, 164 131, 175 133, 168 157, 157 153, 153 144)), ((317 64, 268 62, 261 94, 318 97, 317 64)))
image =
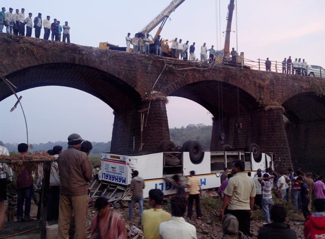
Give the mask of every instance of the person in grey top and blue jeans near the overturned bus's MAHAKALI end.
POLYGON ((134 170, 132 173, 132 180, 130 189, 133 192, 130 207, 128 208, 128 220, 132 220, 133 206, 136 202, 139 203, 140 210, 140 220, 139 224, 142 223, 142 212, 143 212, 143 189, 144 189, 144 179, 139 176, 139 172, 134 170))

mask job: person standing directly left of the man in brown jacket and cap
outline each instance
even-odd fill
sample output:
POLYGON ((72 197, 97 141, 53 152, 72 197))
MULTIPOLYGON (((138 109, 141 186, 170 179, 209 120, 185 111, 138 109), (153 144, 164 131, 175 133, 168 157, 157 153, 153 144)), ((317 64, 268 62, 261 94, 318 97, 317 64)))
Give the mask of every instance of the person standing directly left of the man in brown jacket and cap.
MULTIPOLYGON (((54 158, 58 158, 62 153, 62 146, 55 145, 52 150, 54 158)), ((59 167, 56 161, 51 163, 50 173, 50 191, 47 202, 47 221, 57 220, 59 215, 59 200, 60 200, 60 176, 59 167)))

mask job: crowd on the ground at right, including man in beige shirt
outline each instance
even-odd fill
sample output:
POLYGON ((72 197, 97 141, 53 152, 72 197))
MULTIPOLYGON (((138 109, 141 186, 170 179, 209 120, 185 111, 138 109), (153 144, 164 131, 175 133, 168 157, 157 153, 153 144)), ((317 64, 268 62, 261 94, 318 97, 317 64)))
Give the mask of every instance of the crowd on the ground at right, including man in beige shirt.
POLYGON ((284 205, 291 203, 291 199, 295 213, 302 213, 306 220, 305 238, 317 238, 314 237, 315 233, 325 233, 325 184, 322 176, 305 174, 300 169, 294 173, 290 168, 285 172, 268 168, 265 172, 258 169, 252 180, 244 172, 242 161, 233 164, 231 174, 225 168, 221 177, 218 194, 223 206, 220 211, 222 216, 226 213, 234 215, 239 221, 239 230, 245 235, 250 236, 250 218, 254 208, 260 207, 265 213, 266 223, 259 230, 257 238, 280 238, 279 235, 297 238, 297 234, 284 223, 284 205), (230 176, 231 174, 235 175, 230 176), (274 204, 273 191, 283 200, 283 205, 274 204), (314 214, 311 214, 312 202, 316 210, 314 214))

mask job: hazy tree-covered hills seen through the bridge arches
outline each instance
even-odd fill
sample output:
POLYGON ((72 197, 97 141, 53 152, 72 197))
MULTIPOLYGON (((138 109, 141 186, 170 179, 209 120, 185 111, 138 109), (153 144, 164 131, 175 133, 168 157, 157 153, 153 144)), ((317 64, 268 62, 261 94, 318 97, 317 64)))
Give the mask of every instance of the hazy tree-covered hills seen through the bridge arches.
MULTIPOLYGON (((198 125, 188 125, 186 127, 181 128, 173 128, 169 129, 171 141, 173 141, 176 146, 182 146, 183 143, 187 140, 199 141, 202 146, 206 148, 206 151, 210 150, 210 142, 211 142, 211 132, 212 126, 206 126, 203 124, 198 125)), ((91 142, 92 143, 92 151, 90 155, 100 155, 104 152, 109 152, 111 149, 111 141, 105 142, 91 142)), ((3 145, 8 148, 9 152, 17 153, 17 145, 12 143, 3 143, 0 141, 0 145, 3 145)), ((53 148, 55 145, 61 145, 63 150, 68 147, 67 142, 47 142, 47 143, 32 143, 32 150, 29 152, 35 151, 48 151, 53 148)))

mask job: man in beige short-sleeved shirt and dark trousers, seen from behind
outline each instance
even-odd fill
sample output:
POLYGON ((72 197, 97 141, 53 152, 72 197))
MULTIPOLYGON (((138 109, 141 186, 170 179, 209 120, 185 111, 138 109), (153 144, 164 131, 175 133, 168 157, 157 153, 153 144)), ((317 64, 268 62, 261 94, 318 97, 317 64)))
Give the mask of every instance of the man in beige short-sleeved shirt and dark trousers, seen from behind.
POLYGON ((227 187, 223 191, 223 205, 220 209, 221 217, 224 214, 234 215, 239 222, 239 230, 245 235, 250 234, 250 220, 253 214, 254 198, 256 195, 255 184, 252 178, 247 176, 245 162, 236 160, 233 162, 232 173, 227 187), (228 209, 226 210, 226 207, 228 209))

